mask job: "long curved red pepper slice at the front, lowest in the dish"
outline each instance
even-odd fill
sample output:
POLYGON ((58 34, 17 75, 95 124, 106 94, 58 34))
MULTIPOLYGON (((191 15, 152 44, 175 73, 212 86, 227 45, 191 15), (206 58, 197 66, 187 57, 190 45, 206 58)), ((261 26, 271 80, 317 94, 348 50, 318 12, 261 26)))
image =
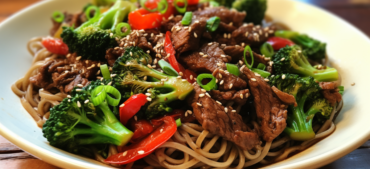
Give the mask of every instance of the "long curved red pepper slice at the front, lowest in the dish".
POLYGON ((122 165, 141 159, 165 143, 177 130, 176 121, 170 116, 162 117, 159 120, 151 120, 151 122, 154 125, 161 125, 163 122, 164 124, 141 141, 122 147, 121 151, 123 152, 109 156, 104 162, 122 165))

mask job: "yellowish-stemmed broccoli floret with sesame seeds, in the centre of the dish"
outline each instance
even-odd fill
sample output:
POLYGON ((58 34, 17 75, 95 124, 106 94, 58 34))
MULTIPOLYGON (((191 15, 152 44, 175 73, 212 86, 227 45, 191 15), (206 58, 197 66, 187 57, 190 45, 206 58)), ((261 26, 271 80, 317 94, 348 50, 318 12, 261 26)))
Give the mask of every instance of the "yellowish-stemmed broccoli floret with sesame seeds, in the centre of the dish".
POLYGON ((138 118, 153 118, 172 111, 167 104, 171 101, 185 97, 193 90, 194 86, 186 80, 169 76, 157 70, 150 69, 152 58, 139 47, 127 47, 125 53, 117 59, 113 72, 117 74, 113 81, 126 93, 151 93, 151 101, 142 106, 142 116, 138 118))

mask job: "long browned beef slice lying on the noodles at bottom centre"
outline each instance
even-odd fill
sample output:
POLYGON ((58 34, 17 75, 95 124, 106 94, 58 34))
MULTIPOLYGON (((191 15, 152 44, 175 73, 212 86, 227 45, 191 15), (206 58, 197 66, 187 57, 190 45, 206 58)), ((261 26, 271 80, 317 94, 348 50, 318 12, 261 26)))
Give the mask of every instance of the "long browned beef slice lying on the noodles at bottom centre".
POLYGON ((209 97, 199 97, 203 93, 198 85, 194 86, 195 92, 191 97, 191 106, 193 107, 195 118, 203 128, 212 134, 219 135, 226 140, 234 142, 243 150, 252 149, 259 145, 259 137, 256 131, 251 130, 239 114, 232 112, 232 107, 225 113, 225 107, 217 104, 215 100, 209 97), (202 106, 198 106, 198 104, 202 106))

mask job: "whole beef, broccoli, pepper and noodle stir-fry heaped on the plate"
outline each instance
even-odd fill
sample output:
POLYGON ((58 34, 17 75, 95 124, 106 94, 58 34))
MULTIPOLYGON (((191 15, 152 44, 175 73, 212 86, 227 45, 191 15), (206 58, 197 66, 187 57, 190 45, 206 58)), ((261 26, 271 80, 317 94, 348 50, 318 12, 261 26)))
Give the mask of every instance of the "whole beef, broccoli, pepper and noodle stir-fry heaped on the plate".
POLYGON ((264 19, 266 8, 94 0, 55 11, 12 90, 51 146, 117 168, 275 163, 334 131, 343 86, 326 44, 264 19))

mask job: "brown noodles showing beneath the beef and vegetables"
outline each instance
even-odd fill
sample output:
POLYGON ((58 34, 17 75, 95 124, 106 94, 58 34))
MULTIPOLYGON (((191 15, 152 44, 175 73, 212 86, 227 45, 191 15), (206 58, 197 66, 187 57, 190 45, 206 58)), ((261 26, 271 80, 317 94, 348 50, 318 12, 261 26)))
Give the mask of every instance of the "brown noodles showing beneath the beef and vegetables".
MULTIPOLYGON (((35 119, 39 127, 45 123, 50 116, 50 108, 59 104, 67 94, 51 93, 45 89, 39 89, 30 83, 30 77, 37 75, 38 69, 46 61, 65 56, 52 54, 41 44, 41 37, 31 39, 27 49, 34 56, 31 68, 24 77, 17 80, 11 89, 21 97, 21 104, 35 119)), ((183 123, 171 139, 159 146, 154 153, 146 156, 143 160, 147 164, 129 163, 125 166, 109 164, 104 162, 104 157, 95 146, 89 146, 85 154, 101 163, 112 165, 117 168, 167 168, 167 169, 242 169, 256 163, 267 165, 286 159, 287 156, 297 150, 304 150, 320 139, 332 133, 335 129, 333 123, 334 115, 340 110, 342 102, 333 108, 329 120, 323 125, 314 127, 315 138, 295 144, 289 137, 276 138, 273 142, 263 142, 262 146, 255 146, 252 150, 243 151, 231 141, 227 141, 218 135, 209 133, 201 125, 183 123), (149 166, 148 166, 149 165, 149 166)), ((236 109, 239 113, 241 106, 236 109)), ((259 130, 259 120, 251 120, 251 124, 259 130)), ((108 145, 108 156, 117 154, 115 145, 108 145)))

